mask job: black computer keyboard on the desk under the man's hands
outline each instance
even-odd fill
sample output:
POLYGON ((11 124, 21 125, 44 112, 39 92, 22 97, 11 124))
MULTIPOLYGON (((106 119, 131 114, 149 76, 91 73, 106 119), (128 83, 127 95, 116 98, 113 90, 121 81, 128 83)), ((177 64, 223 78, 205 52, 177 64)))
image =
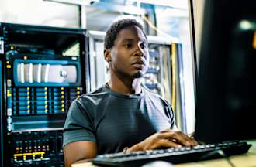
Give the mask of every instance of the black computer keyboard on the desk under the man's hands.
POLYGON ((178 164, 240 155, 248 152, 250 147, 251 145, 247 144, 246 141, 225 141, 216 144, 196 145, 194 147, 98 155, 92 160, 92 163, 100 166, 125 167, 137 167, 153 161, 178 164))

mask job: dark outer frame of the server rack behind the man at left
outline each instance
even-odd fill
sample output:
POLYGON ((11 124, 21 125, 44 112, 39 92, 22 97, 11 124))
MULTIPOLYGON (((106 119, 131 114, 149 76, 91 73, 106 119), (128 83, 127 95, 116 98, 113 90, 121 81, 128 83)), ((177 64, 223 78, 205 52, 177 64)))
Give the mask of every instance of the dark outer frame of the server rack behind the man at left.
MULTIPOLYGON (((74 33, 76 35, 79 35, 80 43, 80 62, 81 62, 81 87, 84 87, 84 92, 88 92, 91 90, 90 86, 90 64, 89 64, 89 56, 88 56, 88 37, 86 35, 86 29, 68 29, 68 28, 56 28, 56 27, 47 27, 47 26, 29 26, 29 25, 19 25, 19 24, 12 24, 12 23, 1 23, 0 22, 0 41, 4 40, 4 33, 5 29, 3 27, 15 27, 16 30, 20 31, 35 31, 35 32, 53 32, 53 33, 74 33), (1 38, 2 37, 2 38, 1 38)), ((6 44, 4 42, 4 44, 6 44)), ((3 46, 5 48, 5 46, 3 46)), ((1 97, 0 97, 0 132, 1 132, 1 144, 0 144, 0 151, 1 151, 1 157, 0 157, 0 165, 1 166, 11 166, 10 157, 7 155, 7 142, 8 135, 7 135, 7 114, 6 114, 6 76, 5 76, 5 53, 0 53, 0 91, 1 91, 1 97), (5 145, 4 145, 5 144, 5 145)))

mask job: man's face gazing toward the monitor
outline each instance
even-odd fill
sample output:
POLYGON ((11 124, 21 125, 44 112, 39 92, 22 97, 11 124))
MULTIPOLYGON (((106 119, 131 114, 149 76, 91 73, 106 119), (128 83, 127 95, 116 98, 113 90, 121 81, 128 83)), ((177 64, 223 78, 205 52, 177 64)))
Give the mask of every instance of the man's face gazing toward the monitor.
POLYGON ((109 56, 109 67, 112 72, 123 77, 142 77, 147 72, 149 63, 144 33, 137 26, 122 29, 116 36, 109 56))

